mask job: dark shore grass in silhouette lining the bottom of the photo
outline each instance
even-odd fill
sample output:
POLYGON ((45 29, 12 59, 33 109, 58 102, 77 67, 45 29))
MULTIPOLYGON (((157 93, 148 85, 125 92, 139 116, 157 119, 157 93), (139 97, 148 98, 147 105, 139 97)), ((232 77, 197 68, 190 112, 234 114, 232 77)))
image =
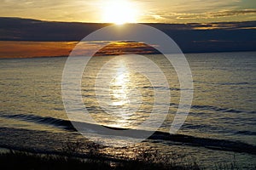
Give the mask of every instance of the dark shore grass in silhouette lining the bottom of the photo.
MULTIPOLYGON (((172 169, 172 170, 201 170, 209 169, 198 166, 195 160, 189 160, 186 163, 179 161, 155 160, 154 154, 143 155, 133 160, 109 160, 102 156, 63 156, 54 154, 39 154, 26 151, 9 150, 0 153, 0 167, 1 169, 33 169, 33 170, 154 170, 154 169, 172 169)), ((241 167, 237 165, 236 160, 230 163, 215 164, 211 169, 219 170, 239 170, 239 169, 255 169, 255 167, 241 167)))

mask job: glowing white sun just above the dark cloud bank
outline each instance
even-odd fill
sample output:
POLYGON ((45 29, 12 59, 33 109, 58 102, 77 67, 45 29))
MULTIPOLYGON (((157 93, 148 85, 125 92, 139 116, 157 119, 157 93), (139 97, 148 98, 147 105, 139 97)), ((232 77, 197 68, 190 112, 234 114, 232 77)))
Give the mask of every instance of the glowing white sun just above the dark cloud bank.
POLYGON ((137 22, 137 7, 128 0, 110 0, 103 6, 102 20, 117 25, 137 22))

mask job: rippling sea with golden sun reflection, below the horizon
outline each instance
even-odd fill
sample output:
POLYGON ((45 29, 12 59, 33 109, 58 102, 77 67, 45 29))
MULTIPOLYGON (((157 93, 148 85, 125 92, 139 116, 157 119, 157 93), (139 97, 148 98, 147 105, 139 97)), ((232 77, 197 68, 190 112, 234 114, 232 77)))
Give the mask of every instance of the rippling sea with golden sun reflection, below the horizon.
MULTIPOLYGON (((228 140, 237 144, 242 142, 253 145, 255 150, 255 55, 255 52, 185 54, 193 75, 194 99, 179 134, 193 136, 195 139, 219 139, 219 142, 228 140)), ((163 93, 169 90, 171 93, 169 114, 159 128, 161 132, 169 132, 180 97, 177 74, 162 56, 147 57, 160 66, 169 82, 170 87, 157 87, 163 93)), ((150 116, 154 105, 154 89, 147 77, 129 70, 129 65, 140 63, 122 57, 110 63, 107 71, 103 72, 107 75, 117 73, 117 77, 108 86, 111 104, 103 94, 100 99, 102 103, 97 102, 95 77, 102 65, 113 58, 95 57, 85 68, 81 83, 84 105, 98 124, 136 129, 150 116)), ((58 143, 74 135, 75 132, 68 128, 70 124, 61 97, 61 77, 66 60, 65 57, 1 59, 2 146, 57 150, 60 146, 58 143)), ((154 77, 156 80, 157 75, 154 77)), ((104 90, 106 87, 98 88, 104 90)), ((157 114, 160 116, 163 113, 158 111, 157 114)), ((83 139, 79 134, 76 135, 83 139)), ((107 142, 111 142, 111 139, 107 142)), ((256 161, 254 154, 250 153, 211 150, 161 139, 148 139, 137 145, 150 146, 166 154, 177 150, 195 156, 202 165, 208 167, 212 166, 212 162, 230 161, 234 154, 241 164, 249 165, 256 161)), ((109 150, 108 153, 111 153, 109 150)))

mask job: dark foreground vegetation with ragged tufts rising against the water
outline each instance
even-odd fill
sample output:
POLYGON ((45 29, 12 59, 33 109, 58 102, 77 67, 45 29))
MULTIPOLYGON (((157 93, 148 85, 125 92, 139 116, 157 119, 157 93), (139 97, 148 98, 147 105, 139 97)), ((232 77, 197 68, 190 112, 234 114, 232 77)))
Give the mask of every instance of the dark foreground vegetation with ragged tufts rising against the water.
POLYGON ((102 145, 95 143, 69 142, 61 148, 61 152, 38 153, 22 150, 5 150, 0 152, 1 169, 124 169, 124 170, 200 170, 200 169, 256 169, 241 167, 234 161, 224 164, 214 164, 212 167, 201 167, 193 157, 184 158, 173 153, 172 156, 160 156, 157 150, 136 150, 134 157, 109 157, 99 150, 102 145), (84 147, 85 145, 85 147, 84 147), (84 154, 81 150, 87 150, 84 154))

